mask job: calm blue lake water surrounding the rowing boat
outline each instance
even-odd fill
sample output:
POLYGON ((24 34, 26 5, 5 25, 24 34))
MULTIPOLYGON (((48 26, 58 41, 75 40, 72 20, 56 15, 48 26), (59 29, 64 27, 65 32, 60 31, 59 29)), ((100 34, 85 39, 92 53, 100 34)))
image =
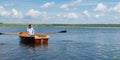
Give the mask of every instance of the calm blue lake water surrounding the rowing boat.
MULTIPOLYGON (((120 28, 35 28, 50 34, 48 44, 26 45, 17 35, 0 35, 0 60, 120 60, 120 28)), ((26 28, 0 28, 0 32, 26 28)))

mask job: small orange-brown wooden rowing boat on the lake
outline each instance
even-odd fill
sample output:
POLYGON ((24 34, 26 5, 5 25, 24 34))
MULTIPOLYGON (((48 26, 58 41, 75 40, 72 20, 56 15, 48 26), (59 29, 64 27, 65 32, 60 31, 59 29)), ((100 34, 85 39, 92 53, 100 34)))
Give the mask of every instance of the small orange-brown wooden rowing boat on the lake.
POLYGON ((34 36, 29 36, 27 32, 19 32, 18 33, 20 40, 22 43, 26 44, 43 44, 48 43, 49 36, 35 34, 34 36))

